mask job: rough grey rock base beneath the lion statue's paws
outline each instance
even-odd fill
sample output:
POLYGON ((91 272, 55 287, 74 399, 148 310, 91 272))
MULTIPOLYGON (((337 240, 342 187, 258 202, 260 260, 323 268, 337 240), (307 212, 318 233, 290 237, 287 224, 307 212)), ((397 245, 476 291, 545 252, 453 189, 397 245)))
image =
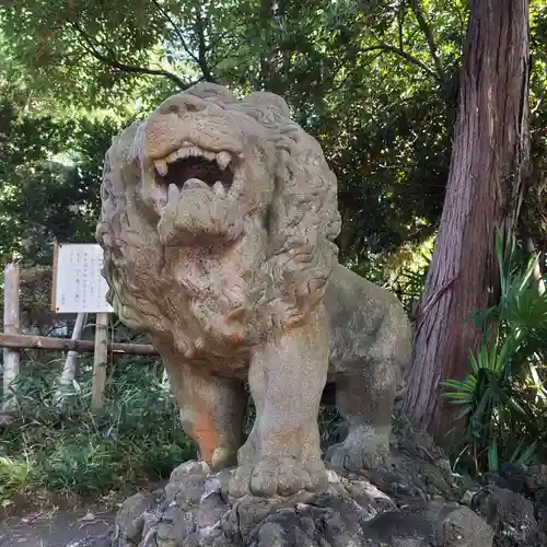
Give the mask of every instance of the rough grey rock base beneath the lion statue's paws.
POLYGON ((392 444, 365 475, 329 472, 322 493, 229 499, 229 473, 177 467, 167 485, 127 499, 107 537, 70 547, 539 547, 547 468, 480 486, 451 473, 427 438, 392 444), (522 494, 519 491, 523 492, 522 494), (540 504, 538 504, 540 502, 540 504))

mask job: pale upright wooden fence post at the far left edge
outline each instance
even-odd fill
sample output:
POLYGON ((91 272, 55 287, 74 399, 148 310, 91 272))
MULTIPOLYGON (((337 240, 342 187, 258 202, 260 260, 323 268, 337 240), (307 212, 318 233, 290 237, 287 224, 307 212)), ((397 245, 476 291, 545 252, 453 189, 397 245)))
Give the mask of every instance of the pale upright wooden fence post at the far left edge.
MULTIPOLYGON (((19 306, 19 266, 7 264, 4 268, 3 289, 3 330, 8 335, 21 334, 21 318, 19 306)), ((11 384, 18 379, 21 369, 21 354, 16 349, 3 350, 3 403, 2 414, 4 421, 9 421, 9 414, 16 409, 16 400, 12 397, 11 384)))

